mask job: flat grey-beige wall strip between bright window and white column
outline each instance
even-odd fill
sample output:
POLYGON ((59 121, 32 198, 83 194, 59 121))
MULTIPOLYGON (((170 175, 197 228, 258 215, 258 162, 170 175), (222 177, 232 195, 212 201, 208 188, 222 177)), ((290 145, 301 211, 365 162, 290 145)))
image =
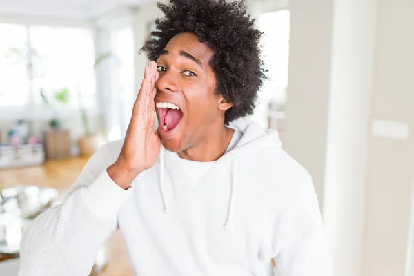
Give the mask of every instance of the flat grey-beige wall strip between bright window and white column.
POLYGON ((313 176, 323 207, 333 3, 290 1, 290 57, 284 149, 313 176))

